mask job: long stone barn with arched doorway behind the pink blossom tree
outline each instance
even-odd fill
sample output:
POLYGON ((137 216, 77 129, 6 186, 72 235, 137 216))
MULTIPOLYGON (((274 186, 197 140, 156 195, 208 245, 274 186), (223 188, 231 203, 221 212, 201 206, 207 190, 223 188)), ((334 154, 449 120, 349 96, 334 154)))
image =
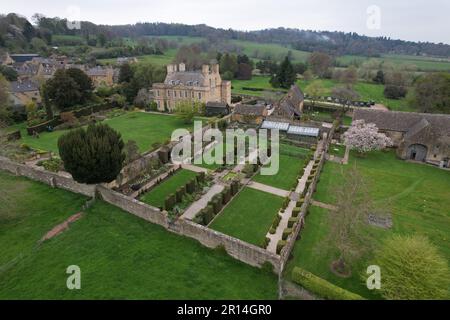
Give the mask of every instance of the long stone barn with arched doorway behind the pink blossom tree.
POLYGON ((450 115, 356 109, 353 119, 374 123, 402 159, 450 167, 450 115))

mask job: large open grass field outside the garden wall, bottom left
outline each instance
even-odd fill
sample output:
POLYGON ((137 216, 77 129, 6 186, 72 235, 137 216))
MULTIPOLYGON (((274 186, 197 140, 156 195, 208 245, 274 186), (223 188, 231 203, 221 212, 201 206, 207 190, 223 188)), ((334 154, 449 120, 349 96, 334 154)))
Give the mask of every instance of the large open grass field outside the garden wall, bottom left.
POLYGON ((6 173, 0 185, 0 299, 277 298, 275 275, 100 200, 37 245, 84 198, 6 173), (81 268, 81 290, 66 288, 70 265, 81 268))

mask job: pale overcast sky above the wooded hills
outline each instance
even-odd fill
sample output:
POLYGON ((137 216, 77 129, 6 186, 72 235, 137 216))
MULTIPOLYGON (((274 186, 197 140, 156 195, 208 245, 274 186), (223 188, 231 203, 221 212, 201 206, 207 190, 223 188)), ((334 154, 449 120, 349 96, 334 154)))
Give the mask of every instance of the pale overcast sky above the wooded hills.
POLYGON ((289 27, 450 44, 450 0, 1 0, 1 12, 97 24, 204 23, 257 30, 289 27), (374 7, 376 6, 376 7, 374 7), (79 14, 77 13, 79 12, 79 14), (79 17, 79 18, 78 18, 79 17))

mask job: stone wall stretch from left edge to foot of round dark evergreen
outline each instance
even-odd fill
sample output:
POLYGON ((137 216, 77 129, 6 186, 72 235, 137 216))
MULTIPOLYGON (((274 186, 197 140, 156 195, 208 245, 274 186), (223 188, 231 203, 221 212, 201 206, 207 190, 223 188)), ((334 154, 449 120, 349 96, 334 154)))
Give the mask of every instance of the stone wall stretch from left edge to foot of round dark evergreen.
POLYGON ((0 157, 0 169, 9 171, 18 176, 24 176, 32 180, 43 182, 55 188, 69 190, 88 197, 95 196, 96 185, 78 183, 72 178, 65 177, 59 173, 35 169, 24 164, 13 162, 4 157, 0 157))

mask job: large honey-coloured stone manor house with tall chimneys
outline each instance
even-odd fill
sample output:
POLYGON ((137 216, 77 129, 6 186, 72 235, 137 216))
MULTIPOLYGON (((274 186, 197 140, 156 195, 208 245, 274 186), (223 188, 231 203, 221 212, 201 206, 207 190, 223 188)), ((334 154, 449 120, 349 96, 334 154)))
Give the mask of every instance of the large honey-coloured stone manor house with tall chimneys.
POLYGON ((187 71, 184 63, 170 64, 164 83, 155 83, 152 89, 160 111, 172 111, 182 101, 231 104, 231 82, 222 80, 217 63, 197 71, 187 71))

